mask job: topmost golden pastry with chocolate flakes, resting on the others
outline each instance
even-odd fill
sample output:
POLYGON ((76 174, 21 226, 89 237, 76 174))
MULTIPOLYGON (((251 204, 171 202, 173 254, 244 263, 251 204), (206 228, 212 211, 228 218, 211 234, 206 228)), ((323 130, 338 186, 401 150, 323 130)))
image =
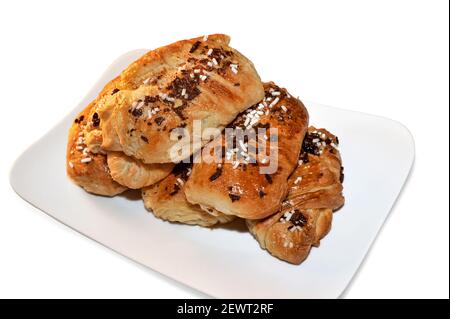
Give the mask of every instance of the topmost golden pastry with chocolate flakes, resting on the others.
POLYGON ((99 108, 102 147, 145 163, 167 163, 174 160, 175 144, 190 144, 190 156, 209 141, 171 140, 173 129, 192 134, 199 120, 202 129, 218 128, 220 134, 264 94, 253 64, 229 40, 216 34, 178 41, 132 63, 115 83, 120 91, 99 108))

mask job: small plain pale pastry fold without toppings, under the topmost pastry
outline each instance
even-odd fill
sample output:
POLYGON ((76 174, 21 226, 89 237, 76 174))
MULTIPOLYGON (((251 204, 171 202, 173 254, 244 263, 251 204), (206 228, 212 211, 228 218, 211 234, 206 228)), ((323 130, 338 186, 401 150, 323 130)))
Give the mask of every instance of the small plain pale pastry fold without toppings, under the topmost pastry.
POLYGON ((121 185, 140 189, 159 182, 172 171, 174 164, 144 164, 122 152, 108 152, 111 177, 121 185))

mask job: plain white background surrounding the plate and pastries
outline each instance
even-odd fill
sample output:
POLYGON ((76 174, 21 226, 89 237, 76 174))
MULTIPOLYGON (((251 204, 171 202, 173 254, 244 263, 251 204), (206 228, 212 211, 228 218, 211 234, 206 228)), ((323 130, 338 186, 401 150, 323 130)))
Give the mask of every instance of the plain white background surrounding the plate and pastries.
POLYGON ((411 130, 410 179, 345 297, 448 298, 448 9, 445 0, 2 1, 0 297, 202 297, 31 207, 9 169, 120 54, 221 32, 264 80, 411 130))

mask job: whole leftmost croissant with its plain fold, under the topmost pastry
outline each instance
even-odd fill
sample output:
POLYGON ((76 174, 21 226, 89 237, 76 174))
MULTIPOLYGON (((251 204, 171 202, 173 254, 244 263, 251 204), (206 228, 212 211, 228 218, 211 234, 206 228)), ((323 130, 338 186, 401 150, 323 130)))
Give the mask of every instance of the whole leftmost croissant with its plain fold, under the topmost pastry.
POLYGON ((66 152, 68 176, 86 191, 114 196, 127 188, 151 185, 167 176, 174 164, 143 164, 119 152, 102 149, 98 109, 111 98, 113 80, 74 120, 66 152))

